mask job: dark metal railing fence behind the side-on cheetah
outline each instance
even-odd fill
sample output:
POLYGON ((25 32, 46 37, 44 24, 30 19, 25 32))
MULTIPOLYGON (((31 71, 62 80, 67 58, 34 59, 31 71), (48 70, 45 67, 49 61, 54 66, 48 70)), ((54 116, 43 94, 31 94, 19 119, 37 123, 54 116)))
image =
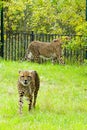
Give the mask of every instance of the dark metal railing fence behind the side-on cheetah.
MULTIPOLYGON (((4 59, 6 60, 24 60, 26 50, 31 41, 39 40, 43 42, 51 42, 53 39, 66 38, 67 35, 59 34, 34 34, 33 32, 6 32, 4 34, 4 59)), ((71 39, 87 39, 82 35, 69 35, 71 39)), ((68 44, 68 42, 65 42, 68 44)), ((86 46, 79 46, 77 49, 72 49, 67 46, 63 48, 63 56, 66 62, 83 62, 87 58, 86 46)))

